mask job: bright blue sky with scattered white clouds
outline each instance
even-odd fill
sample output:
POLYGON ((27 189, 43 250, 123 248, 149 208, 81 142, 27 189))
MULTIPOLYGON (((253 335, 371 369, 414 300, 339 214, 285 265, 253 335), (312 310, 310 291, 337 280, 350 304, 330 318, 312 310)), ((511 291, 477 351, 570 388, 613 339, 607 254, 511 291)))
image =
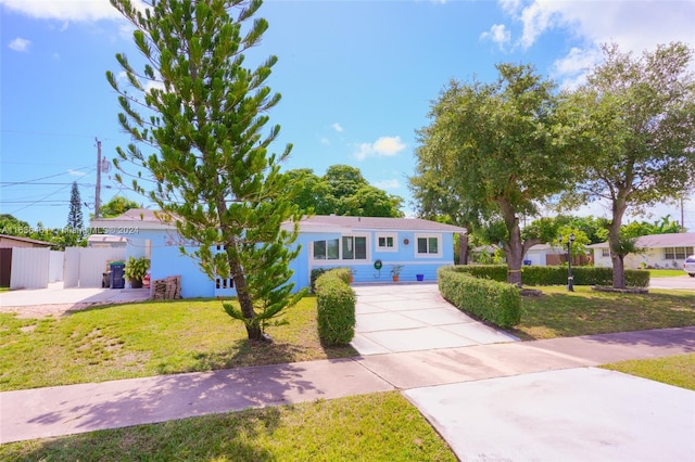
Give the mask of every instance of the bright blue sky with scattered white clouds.
MULTIPOLYGON (((258 15, 270 27, 253 54, 279 59, 270 123, 282 127, 276 152, 294 145, 286 168, 352 165, 404 197, 408 215, 415 131, 450 79, 489 81, 496 63, 522 62, 573 87, 599 43, 695 47, 695 1, 266 0, 258 15)), ((116 53, 137 57, 130 28, 108 0, 0 0, 0 213, 63 227, 77 181, 87 224, 96 139, 108 159, 128 142, 104 74, 121 70, 116 53)), ((103 174, 102 203, 116 194, 143 201, 103 174)), ((573 211, 608 216, 598 205, 573 211)), ((678 206, 652 211, 639 219, 681 216, 678 206)), ((683 213, 695 231, 695 200, 683 213)))

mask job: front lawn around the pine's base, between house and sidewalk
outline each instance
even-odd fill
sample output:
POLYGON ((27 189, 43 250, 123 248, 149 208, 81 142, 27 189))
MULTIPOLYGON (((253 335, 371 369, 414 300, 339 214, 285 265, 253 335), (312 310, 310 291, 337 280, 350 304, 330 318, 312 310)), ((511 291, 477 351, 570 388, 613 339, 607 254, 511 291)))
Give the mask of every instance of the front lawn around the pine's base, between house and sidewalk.
POLYGON ((114 305, 58 319, 0 313, 0 390, 356 355, 321 345, 314 297, 287 319, 266 330, 273 344, 251 345, 218 300, 114 305))

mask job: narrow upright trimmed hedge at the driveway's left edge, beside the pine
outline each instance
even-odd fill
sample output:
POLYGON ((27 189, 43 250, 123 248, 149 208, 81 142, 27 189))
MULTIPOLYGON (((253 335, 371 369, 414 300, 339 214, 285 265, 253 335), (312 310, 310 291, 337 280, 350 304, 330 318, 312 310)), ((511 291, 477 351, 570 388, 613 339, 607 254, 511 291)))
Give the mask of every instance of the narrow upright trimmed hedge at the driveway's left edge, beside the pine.
POLYGON ((327 345, 346 345, 355 336, 357 297, 349 284, 348 268, 326 271, 316 280, 318 336, 327 345))

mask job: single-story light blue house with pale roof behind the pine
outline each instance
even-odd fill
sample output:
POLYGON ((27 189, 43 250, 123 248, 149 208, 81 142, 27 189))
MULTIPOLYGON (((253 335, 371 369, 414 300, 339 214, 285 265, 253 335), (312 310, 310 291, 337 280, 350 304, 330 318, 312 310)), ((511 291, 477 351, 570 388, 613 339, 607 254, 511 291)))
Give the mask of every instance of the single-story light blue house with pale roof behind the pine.
MULTIPOLYGON (((182 242, 175 227, 153 210, 130 209, 91 224, 125 236, 128 257, 149 257, 152 280, 180 274, 185 298, 236 294, 231 280, 211 281, 197 261, 181 254, 181 245, 191 251, 194 246, 182 242)), ((466 230, 418 218, 308 217, 300 221, 293 244, 302 249, 291 262, 290 282, 296 290, 307 287, 313 269, 337 267, 351 268, 357 283, 392 284, 394 268, 401 282, 435 281, 438 268, 454 264, 454 233, 462 232, 466 230)))

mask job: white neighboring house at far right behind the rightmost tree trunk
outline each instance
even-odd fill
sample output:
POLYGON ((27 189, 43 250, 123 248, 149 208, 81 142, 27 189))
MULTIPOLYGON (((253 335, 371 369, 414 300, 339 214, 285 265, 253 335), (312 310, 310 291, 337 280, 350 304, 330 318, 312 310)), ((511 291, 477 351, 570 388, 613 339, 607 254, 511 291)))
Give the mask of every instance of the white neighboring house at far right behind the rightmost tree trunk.
MULTIPOLYGON (((683 268, 685 258, 695 254, 695 233, 652 234, 637 238, 640 254, 626 256, 626 268, 683 268)), ((587 245, 594 253, 594 265, 612 267, 610 247, 607 242, 587 245)))

